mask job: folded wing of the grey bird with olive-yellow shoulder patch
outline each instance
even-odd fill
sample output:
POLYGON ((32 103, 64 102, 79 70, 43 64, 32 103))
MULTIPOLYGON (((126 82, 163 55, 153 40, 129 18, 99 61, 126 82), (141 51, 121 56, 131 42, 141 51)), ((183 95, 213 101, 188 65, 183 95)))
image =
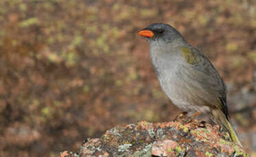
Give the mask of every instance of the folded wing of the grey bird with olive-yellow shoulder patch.
POLYGON ((226 87, 224 81, 218 74, 217 70, 213 67, 211 61, 202 55, 200 51, 193 47, 183 47, 182 48, 183 57, 189 64, 189 68, 192 72, 189 77, 195 82, 200 82, 202 88, 207 88, 205 91, 213 92, 218 96, 221 109, 225 115, 227 115, 228 109, 226 106, 226 87))

